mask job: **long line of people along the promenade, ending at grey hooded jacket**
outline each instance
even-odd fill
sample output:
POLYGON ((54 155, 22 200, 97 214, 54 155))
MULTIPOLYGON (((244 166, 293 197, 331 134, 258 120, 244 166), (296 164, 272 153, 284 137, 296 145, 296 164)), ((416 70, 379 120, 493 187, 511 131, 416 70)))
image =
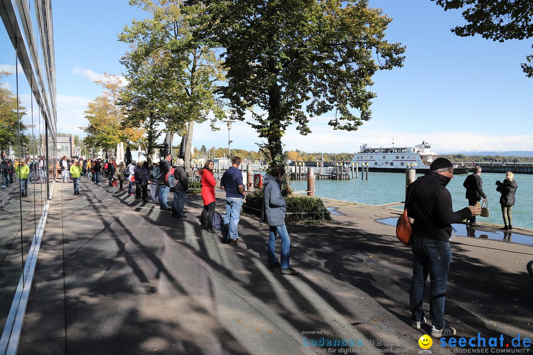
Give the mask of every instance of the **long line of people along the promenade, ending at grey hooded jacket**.
MULTIPOLYGON (((246 196, 243 184, 243 174, 239 170, 242 159, 235 156, 220 180, 220 187, 225 191, 225 215, 221 226, 225 234, 224 241, 229 244, 244 244, 239 237, 239 220, 241 208, 246 196)), ((205 162, 198 173, 201 181, 201 197, 204 209, 201 212, 201 229, 214 233, 215 218, 215 187, 217 181, 213 174, 214 163, 212 160, 205 162)), ((117 163, 114 158, 102 159, 69 159, 63 156, 56 164, 58 173, 61 172, 63 183, 71 182, 74 185, 74 194, 79 194, 79 180, 81 177, 91 179, 96 185, 102 185, 100 177, 108 179, 108 186, 117 186, 124 190, 124 181, 128 181, 128 194, 142 198, 148 202, 148 186, 150 186, 151 200, 159 204, 161 210, 172 211, 172 217, 187 218, 184 212, 185 197, 189 189, 188 175, 184 168, 184 161, 178 158, 173 163, 172 154, 165 154, 161 161, 153 166, 148 162, 132 161, 126 165, 124 161, 117 163), (135 186, 135 192, 133 187, 135 186), (168 195, 173 192, 172 205, 168 205, 168 195)), ((285 226, 285 200, 287 190, 281 192, 282 177, 285 176, 285 167, 276 166, 271 174, 265 178, 265 201, 262 220, 270 226, 268 241, 268 267, 279 268, 282 275, 295 275, 297 271, 289 266, 290 238, 285 226), (281 240, 281 262, 274 253, 277 237, 281 240)))

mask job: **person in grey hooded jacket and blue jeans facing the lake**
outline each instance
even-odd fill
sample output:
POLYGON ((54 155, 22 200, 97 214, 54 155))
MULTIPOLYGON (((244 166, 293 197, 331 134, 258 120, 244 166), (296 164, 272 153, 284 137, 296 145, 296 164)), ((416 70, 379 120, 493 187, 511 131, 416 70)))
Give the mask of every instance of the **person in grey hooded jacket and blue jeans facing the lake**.
POLYGON ((270 226, 268 238, 268 267, 281 268, 282 275, 296 275, 298 271, 289 267, 290 238, 285 226, 285 199, 289 187, 281 192, 281 181, 285 175, 285 167, 277 165, 272 168, 263 180, 263 211, 260 222, 267 222, 270 226), (281 238, 281 263, 276 258, 276 238, 281 238))

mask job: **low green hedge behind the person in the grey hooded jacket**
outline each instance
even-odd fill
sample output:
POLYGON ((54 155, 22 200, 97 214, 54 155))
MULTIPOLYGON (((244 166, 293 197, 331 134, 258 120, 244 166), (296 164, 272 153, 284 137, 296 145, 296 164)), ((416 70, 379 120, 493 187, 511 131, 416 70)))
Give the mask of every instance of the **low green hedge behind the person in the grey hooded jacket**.
MULTIPOLYGON (((285 221, 290 222, 327 222, 331 221, 331 215, 324 206, 322 200, 317 197, 288 195, 285 197, 287 214, 285 221), (308 213, 302 213, 308 212, 308 213)), ((263 204, 263 189, 258 188, 253 193, 246 195, 244 203, 245 211, 256 216, 261 215, 263 204)))

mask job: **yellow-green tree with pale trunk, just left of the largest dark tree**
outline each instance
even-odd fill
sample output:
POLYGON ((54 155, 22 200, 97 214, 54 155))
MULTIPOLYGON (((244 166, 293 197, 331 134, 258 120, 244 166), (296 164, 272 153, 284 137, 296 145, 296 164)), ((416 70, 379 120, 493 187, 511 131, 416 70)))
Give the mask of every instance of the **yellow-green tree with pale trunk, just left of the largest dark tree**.
MULTIPOLYGON (((166 130, 187 134, 188 161, 194 123, 206 121, 212 112, 212 128, 216 129, 214 121, 225 117, 215 95, 216 82, 224 80, 215 47, 193 36, 194 31, 201 32, 206 26, 204 6, 185 5, 181 0, 131 0, 130 5, 141 7, 151 18, 134 20, 131 27, 124 28, 119 40, 133 46, 131 55, 135 52, 138 57, 157 58, 161 64, 159 76, 168 83, 165 102, 174 112, 166 121, 166 130)), ((134 91, 135 87, 131 89, 134 91)))

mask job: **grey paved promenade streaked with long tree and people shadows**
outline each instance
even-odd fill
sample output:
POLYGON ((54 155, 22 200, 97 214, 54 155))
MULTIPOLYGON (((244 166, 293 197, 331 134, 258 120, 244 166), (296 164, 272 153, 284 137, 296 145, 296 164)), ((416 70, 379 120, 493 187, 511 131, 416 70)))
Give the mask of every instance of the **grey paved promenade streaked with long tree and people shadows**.
MULTIPOLYGON (((82 178, 73 195, 57 183, 19 354, 313 354, 303 337, 321 336, 354 339, 346 349, 364 354, 418 353, 430 326, 410 326, 410 247, 375 221, 399 212, 327 204, 335 223, 288 226, 300 275, 282 276, 265 265, 268 226, 257 218, 241 218, 245 245, 222 244, 199 228, 199 196, 187 196, 187 219, 173 219, 116 187, 82 178)), ((531 337, 533 247, 452 245, 446 314, 458 336, 531 337)))

